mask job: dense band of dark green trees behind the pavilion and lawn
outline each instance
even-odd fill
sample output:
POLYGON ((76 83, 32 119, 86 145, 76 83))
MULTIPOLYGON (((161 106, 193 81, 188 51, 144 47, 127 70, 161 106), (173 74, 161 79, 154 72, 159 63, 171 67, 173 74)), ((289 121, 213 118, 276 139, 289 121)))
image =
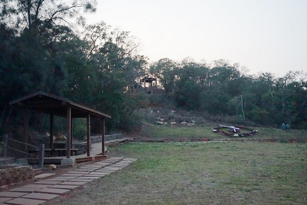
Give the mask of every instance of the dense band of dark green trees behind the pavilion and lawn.
POLYGON ((11 115, 10 101, 41 90, 111 115, 109 130, 129 130, 146 101, 142 93, 130 95, 131 88, 155 77, 178 108, 307 129, 306 73, 249 75, 237 63, 189 57, 151 62, 127 31, 105 22, 76 30, 95 6, 93 0, 0 1, 0 127, 11 115))

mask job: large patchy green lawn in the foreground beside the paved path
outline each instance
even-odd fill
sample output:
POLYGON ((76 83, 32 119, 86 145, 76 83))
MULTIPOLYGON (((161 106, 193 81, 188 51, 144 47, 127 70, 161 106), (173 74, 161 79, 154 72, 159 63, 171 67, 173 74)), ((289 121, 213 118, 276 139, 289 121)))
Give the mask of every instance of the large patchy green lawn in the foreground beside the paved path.
POLYGON ((46 204, 307 204, 307 144, 127 143, 128 167, 46 204))

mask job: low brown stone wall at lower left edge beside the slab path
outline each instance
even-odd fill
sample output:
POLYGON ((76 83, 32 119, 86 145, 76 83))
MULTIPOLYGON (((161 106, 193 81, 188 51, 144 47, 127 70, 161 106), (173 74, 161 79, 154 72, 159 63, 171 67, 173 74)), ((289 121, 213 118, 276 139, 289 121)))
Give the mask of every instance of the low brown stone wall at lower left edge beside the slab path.
POLYGON ((0 186, 34 179, 32 166, 0 169, 0 186))

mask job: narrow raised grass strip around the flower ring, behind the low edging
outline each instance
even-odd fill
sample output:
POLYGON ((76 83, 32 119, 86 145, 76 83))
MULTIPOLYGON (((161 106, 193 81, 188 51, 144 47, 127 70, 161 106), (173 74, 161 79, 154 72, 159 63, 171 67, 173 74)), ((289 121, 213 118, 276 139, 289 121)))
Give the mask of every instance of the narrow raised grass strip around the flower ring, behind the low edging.
MULTIPOLYGON (((157 125, 143 122, 141 130, 141 137, 147 137, 150 139, 221 139, 221 138, 241 138, 234 136, 223 136, 212 132, 212 129, 218 127, 218 125, 211 125, 208 127, 188 127, 188 126, 169 126, 169 125, 157 125), (180 136, 180 137, 178 137, 180 136)), ((257 128, 258 134, 254 136, 248 136, 244 138, 306 138, 307 130, 282 130, 273 128, 257 128)), ((223 131, 227 132, 228 128, 224 128, 223 131)), ((251 132, 250 130, 242 130, 241 132, 251 132)))

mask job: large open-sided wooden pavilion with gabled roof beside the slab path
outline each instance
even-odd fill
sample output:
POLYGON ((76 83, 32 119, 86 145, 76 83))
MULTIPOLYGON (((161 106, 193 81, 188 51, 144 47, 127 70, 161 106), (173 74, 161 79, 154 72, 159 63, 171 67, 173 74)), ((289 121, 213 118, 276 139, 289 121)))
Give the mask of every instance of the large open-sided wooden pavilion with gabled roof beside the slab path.
POLYGON ((49 148, 53 149, 53 121, 54 116, 60 116, 66 118, 66 158, 71 158, 71 149, 72 149, 72 119, 73 118, 86 118, 87 119, 87 156, 90 154, 90 119, 92 117, 99 117, 101 119, 101 135, 102 135, 102 155, 105 154, 104 146, 104 137, 105 137, 105 128, 104 122, 105 118, 111 118, 111 116, 99 112, 93 108, 77 104, 73 101, 70 101, 66 98, 59 97, 50 93, 44 93, 38 91, 30 95, 21 97, 17 100, 11 101, 10 105, 15 105, 23 108, 23 140, 25 143, 24 150, 27 149, 27 134, 28 134, 28 124, 29 116, 28 110, 43 112, 50 114, 50 143, 49 148))

